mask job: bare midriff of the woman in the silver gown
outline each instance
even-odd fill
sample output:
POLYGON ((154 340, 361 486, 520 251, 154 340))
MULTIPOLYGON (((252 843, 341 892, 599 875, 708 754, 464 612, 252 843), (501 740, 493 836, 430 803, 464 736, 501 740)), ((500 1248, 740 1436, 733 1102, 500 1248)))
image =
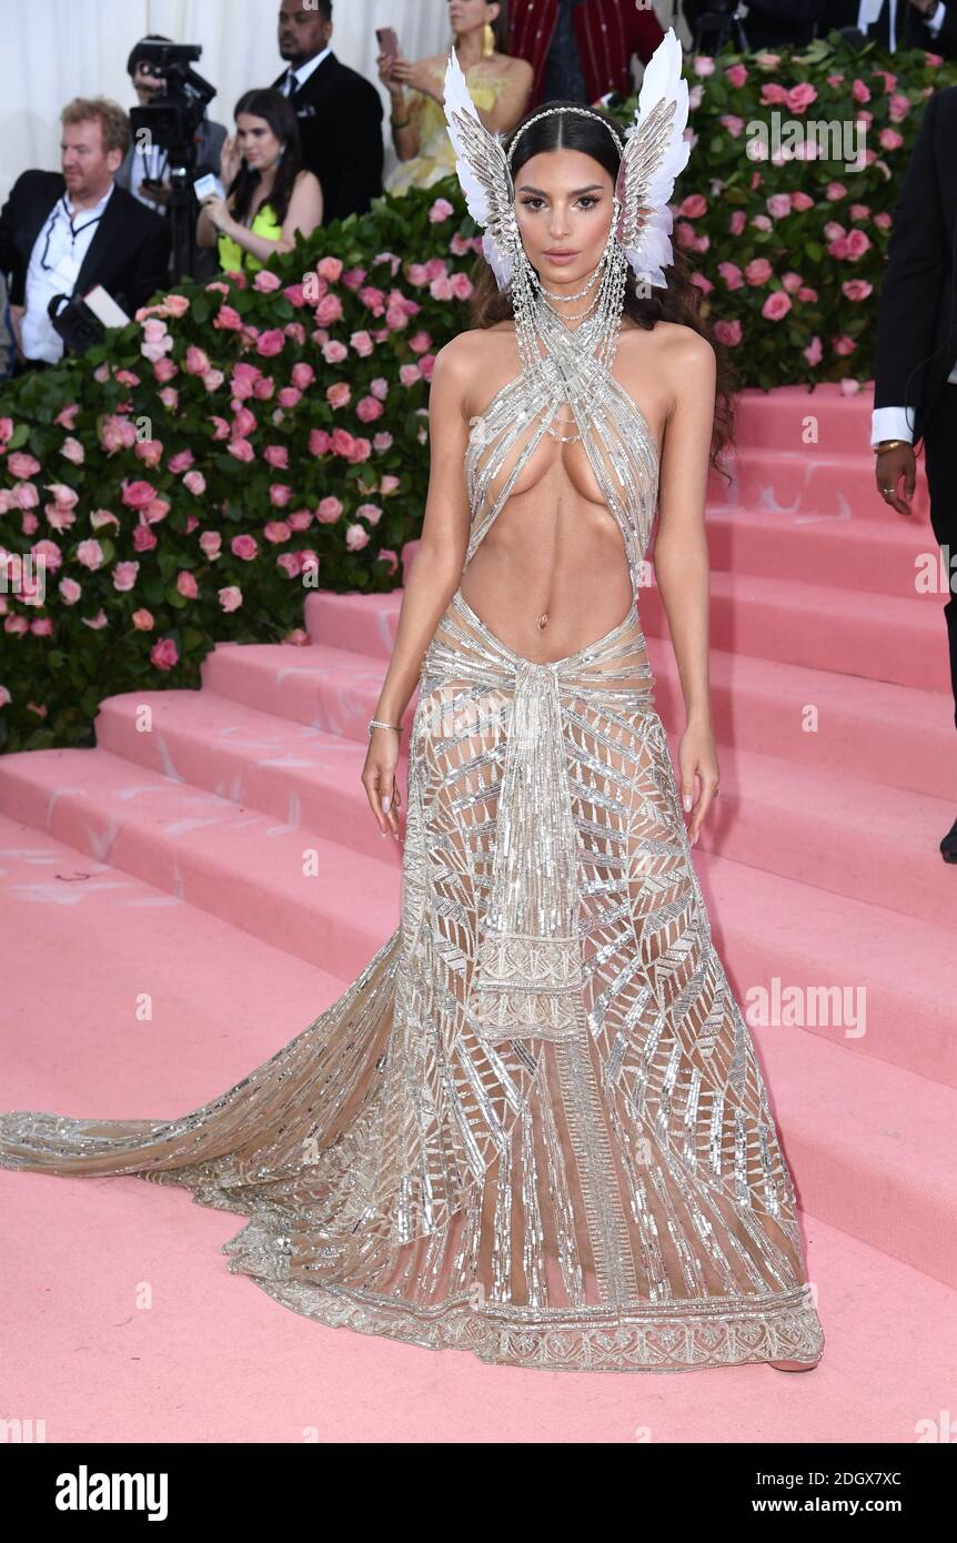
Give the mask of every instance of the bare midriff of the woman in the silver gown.
MULTIPOLYGON (((514 373, 517 367, 516 358, 514 373)), ((559 417, 571 417, 568 404, 559 417)), ((556 427, 576 432, 574 423, 556 427)), ((512 451, 489 501, 516 458, 512 451)), ((542 435, 463 569, 460 589, 506 648, 536 663, 565 659, 625 620, 633 599, 625 542, 580 440, 542 435)))

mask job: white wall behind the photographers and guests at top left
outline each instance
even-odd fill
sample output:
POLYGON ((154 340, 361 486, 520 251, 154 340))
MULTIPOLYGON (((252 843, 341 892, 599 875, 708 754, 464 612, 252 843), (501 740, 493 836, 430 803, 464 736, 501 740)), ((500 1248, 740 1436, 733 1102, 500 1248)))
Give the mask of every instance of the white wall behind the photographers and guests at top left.
MULTIPOLYGON (((0 0, 0 199, 28 167, 60 168, 60 110, 74 96, 108 96, 127 111, 136 97, 130 49, 145 32, 201 43, 198 71, 218 88, 210 117, 232 130, 233 103, 284 68, 276 48, 278 0, 0 0)), ((671 0, 656 0, 667 26, 671 0)), ((394 26, 407 59, 448 49, 446 0, 333 0, 332 46, 372 80, 377 26, 394 26)), ((392 148, 386 136, 386 167, 392 148)))

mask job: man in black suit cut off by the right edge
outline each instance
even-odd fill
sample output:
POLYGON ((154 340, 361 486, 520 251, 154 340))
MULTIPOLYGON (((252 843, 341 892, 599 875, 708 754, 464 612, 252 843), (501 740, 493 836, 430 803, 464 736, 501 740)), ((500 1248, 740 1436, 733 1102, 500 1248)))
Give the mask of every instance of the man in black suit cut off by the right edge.
MULTIPOLYGON (((911 512, 923 438, 931 525, 943 548, 949 593, 943 614, 957 724, 957 86, 928 97, 903 176, 877 312, 871 444, 877 489, 911 512), (903 481, 903 491, 901 491, 903 481)), ((940 842, 957 863, 957 821, 940 842)))

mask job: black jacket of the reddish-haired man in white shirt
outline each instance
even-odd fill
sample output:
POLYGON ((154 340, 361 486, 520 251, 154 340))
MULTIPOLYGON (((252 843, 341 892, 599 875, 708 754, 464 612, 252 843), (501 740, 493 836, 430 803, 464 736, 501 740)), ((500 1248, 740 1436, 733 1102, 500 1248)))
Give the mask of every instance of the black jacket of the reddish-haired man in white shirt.
MULTIPOLYGON (((34 242, 66 187, 59 171, 23 171, 0 211, 0 272, 11 306, 26 304, 26 270, 34 242)), ((168 221, 145 208, 125 188, 110 202, 86 248, 74 293, 102 284, 128 316, 170 282, 168 221)))

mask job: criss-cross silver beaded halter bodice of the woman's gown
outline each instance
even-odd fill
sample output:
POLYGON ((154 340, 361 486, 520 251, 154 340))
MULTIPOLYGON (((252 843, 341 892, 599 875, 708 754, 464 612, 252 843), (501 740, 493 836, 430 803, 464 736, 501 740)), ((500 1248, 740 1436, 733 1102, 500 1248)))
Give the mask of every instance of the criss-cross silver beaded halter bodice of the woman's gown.
POLYGON ((542 306, 546 353, 536 372, 522 370, 469 421, 465 472, 471 508, 466 566, 508 503, 523 468, 557 418, 574 417, 562 435, 580 435, 608 511, 621 528, 637 594, 654 508, 659 460, 654 435, 625 387, 590 355, 587 324, 570 332, 542 306))

